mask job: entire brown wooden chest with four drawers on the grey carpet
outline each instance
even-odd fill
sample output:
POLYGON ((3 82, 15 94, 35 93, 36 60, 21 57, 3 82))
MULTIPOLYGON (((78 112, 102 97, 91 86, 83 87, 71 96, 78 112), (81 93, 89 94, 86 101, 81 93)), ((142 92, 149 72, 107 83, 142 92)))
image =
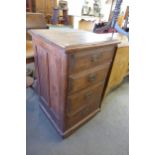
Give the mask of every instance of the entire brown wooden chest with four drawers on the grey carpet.
POLYGON ((40 105, 62 137, 97 112, 117 40, 79 30, 30 30, 40 105))

